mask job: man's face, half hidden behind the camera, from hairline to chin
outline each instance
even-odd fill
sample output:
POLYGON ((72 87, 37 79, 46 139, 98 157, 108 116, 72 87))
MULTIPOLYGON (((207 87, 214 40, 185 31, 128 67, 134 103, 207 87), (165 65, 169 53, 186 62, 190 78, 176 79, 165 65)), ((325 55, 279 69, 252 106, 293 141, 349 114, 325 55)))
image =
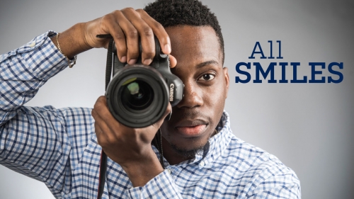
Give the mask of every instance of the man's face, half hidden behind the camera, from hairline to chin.
POLYGON ((171 38, 171 69, 185 85, 183 100, 173 107, 171 120, 161 132, 171 148, 191 151, 202 148, 222 116, 229 87, 222 51, 210 26, 180 25, 166 28, 171 38))

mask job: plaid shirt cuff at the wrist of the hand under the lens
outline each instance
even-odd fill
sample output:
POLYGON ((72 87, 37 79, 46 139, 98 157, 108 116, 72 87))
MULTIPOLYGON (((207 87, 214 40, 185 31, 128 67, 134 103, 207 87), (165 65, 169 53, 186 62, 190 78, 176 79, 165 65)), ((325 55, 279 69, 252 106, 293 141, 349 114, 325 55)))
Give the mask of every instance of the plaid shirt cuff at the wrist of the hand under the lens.
POLYGON ((137 198, 182 198, 180 190, 173 182, 169 169, 152 178, 145 186, 130 188, 128 195, 137 198))

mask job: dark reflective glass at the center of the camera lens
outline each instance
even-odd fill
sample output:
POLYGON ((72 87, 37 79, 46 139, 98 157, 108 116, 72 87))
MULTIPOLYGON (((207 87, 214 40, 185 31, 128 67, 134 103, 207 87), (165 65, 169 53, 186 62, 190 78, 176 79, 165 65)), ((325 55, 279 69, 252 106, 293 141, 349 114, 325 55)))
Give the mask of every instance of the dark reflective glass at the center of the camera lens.
POLYGON ((122 86, 122 104, 132 110, 144 110, 154 100, 154 91, 147 82, 135 79, 122 86))

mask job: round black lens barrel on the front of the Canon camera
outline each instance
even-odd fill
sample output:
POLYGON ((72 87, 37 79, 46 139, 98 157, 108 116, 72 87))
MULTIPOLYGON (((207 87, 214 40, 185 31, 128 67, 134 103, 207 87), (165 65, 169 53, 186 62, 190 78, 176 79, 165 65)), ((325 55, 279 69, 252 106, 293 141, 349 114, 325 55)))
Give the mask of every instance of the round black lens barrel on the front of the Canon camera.
POLYGON ((120 69, 105 93, 110 113, 123 125, 139 128, 156 123, 169 103, 169 87, 153 67, 141 64, 120 69))

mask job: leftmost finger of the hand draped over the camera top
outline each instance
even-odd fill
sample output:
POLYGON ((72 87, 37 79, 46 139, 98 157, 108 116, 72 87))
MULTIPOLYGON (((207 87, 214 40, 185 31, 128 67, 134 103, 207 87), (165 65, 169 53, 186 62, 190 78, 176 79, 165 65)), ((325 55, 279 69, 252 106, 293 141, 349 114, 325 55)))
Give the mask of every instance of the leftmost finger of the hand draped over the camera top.
MULTIPOLYGON (((127 62, 127 43, 125 41, 125 34, 123 33, 122 28, 118 24, 118 20, 122 18, 120 11, 114 11, 113 13, 104 16, 103 23, 105 27, 108 28, 108 32, 112 35, 115 42, 115 47, 117 48, 117 55, 120 62, 127 62)), ((108 48, 108 42, 106 44, 108 48)))

